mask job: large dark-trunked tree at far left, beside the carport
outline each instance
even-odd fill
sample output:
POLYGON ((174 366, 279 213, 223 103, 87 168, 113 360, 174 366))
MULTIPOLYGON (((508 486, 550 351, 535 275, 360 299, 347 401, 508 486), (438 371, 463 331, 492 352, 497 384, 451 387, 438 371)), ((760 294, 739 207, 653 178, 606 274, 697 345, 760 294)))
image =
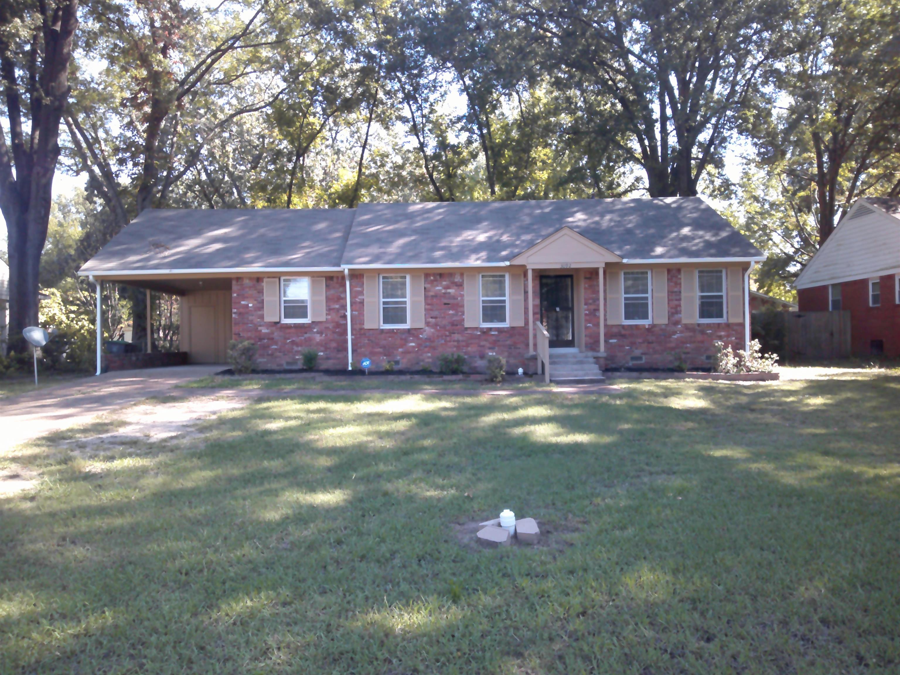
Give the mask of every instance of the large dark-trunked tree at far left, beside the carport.
POLYGON ((22 330, 38 323, 40 253, 47 238, 77 14, 77 0, 0 5, 7 121, 0 132, 0 210, 9 233, 11 345, 21 344, 22 330))

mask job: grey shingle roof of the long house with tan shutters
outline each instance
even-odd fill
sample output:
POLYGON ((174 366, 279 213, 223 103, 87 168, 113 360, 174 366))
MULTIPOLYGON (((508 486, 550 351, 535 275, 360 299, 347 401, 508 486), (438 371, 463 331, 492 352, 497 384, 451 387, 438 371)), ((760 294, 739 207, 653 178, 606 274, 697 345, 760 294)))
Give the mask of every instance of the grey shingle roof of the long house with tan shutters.
POLYGON ((568 226, 626 259, 761 257, 699 197, 151 209, 81 272, 508 262, 568 226))

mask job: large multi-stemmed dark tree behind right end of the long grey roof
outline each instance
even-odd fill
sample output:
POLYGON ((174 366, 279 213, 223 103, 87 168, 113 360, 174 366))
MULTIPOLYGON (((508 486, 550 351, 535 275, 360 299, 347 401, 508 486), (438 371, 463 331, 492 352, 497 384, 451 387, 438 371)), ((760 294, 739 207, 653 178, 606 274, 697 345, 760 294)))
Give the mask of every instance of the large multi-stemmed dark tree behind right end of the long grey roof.
POLYGON ((545 43, 544 67, 584 100, 616 106, 610 138, 652 197, 693 196, 789 42, 780 0, 545 0, 509 12, 545 43))

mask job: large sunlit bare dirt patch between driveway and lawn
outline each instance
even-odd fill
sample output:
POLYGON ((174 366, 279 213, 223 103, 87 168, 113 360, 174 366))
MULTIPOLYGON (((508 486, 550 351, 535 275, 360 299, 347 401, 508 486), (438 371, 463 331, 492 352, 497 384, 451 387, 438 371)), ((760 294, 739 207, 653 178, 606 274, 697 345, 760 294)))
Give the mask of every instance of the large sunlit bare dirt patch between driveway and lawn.
POLYGON ((82 436, 66 442, 72 452, 89 458, 109 455, 123 449, 179 446, 204 435, 198 426, 222 412, 247 405, 246 398, 202 396, 188 399, 139 403, 115 413, 116 428, 94 436, 82 436))

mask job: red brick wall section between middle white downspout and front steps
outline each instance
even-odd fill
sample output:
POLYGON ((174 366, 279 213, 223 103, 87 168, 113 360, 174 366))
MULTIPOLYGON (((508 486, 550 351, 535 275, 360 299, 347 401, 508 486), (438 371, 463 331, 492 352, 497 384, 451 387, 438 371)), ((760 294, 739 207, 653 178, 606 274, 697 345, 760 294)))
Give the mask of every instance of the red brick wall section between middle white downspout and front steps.
POLYGON ((371 358, 377 369, 400 361, 402 370, 437 370, 438 356, 460 352, 472 370, 483 370, 491 355, 505 357, 508 370, 527 368, 527 328, 465 328, 463 289, 462 272, 427 274, 424 329, 365 329, 363 275, 350 275, 354 361, 371 358))

